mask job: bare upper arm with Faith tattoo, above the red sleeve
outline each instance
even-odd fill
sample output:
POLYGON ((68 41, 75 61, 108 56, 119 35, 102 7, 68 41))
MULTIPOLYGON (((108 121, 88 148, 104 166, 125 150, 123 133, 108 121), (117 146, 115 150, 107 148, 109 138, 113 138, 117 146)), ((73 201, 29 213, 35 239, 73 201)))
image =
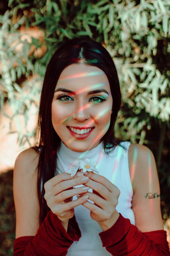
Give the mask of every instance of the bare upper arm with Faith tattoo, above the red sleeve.
POLYGON ((160 188, 152 152, 145 146, 131 144, 129 170, 134 191, 132 209, 135 225, 141 232, 163 230, 160 188))

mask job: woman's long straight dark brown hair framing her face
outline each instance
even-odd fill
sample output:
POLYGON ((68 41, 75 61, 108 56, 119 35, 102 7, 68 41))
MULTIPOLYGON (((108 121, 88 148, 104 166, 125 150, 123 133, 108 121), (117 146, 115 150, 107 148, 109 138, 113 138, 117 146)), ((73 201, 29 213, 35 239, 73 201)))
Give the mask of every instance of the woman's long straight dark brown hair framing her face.
POLYGON ((120 109, 121 94, 113 59, 101 44, 88 37, 76 37, 68 40, 52 56, 47 66, 41 92, 37 125, 38 143, 37 147, 34 147, 35 150, 39 150, 37 188, 40 205, 40 225, 50 210, 44 199, 44 184, 54 177, 56 173, 56 152, 61 143, 61 139, 55 132, 51 120, 51 104, 54 90, 64 68, 79 61, 98 67, 107 75, 113 98, 113 114, 111 115, 110 126, 102 140, 105 151, 107 148, 119 144, 119 141, 115 139, 113 128, 120 109))

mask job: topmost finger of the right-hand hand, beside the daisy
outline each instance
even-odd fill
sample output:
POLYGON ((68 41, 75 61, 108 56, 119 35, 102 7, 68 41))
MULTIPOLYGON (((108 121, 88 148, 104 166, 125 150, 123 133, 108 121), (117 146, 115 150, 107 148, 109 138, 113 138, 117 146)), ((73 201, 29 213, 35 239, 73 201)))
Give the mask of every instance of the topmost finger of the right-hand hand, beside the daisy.
POLYGON ((102 184, 109 191, 113 192, 115 185, 112 182, 110 182, 109 180, 107 180, 104 176, 96 174, 94 172, 88 172, 87 176, 89 177, 90 180, 93 180, 93 181, 96 181, 96 182, 102 184))

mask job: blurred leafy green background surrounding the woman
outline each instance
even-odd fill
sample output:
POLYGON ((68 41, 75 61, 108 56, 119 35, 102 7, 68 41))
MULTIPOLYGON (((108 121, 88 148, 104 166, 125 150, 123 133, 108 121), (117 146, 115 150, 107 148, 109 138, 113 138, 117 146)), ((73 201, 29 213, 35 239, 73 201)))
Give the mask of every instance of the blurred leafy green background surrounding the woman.
POLYGON ((169 17, 169 0, 0 0, 0 256, 13 254, 14 162, 34 145, 46 66, 78 35, 102 43, 115 61, 122 92, 115 133, 153 152, 169 234, 169 17))

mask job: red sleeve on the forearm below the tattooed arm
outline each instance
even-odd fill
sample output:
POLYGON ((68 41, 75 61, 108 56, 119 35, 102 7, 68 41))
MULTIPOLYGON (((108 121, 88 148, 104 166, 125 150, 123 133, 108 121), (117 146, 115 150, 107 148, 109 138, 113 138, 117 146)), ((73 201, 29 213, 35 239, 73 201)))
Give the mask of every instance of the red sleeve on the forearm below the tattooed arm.
POLYGON ((121 214, 108 230, 99 233, 103 247, 114 256, 169 256, 166 231, 142 233, 121 214))

